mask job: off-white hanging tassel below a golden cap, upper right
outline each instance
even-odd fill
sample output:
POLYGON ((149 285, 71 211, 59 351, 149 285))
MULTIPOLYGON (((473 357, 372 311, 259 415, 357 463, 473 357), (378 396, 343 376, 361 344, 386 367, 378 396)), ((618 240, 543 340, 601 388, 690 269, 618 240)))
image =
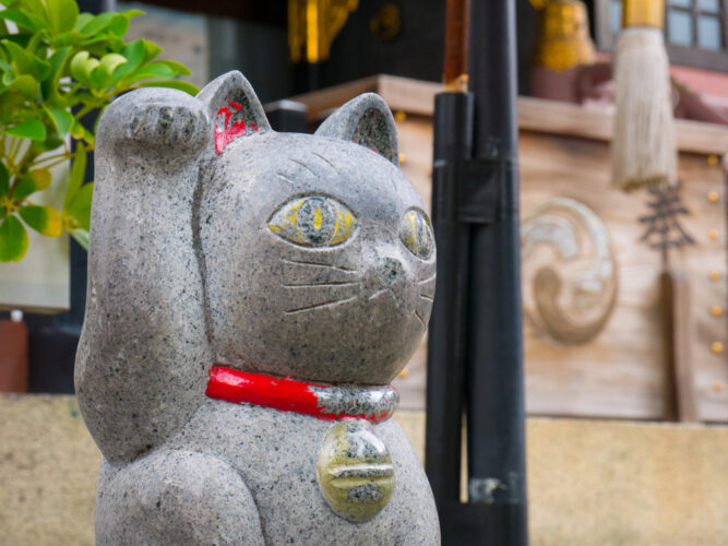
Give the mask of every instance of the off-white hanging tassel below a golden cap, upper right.
POLYGON ((675 186, 672 88, 661 29, 624 28, 614 62, 613 183, 624 191, 675 186))

